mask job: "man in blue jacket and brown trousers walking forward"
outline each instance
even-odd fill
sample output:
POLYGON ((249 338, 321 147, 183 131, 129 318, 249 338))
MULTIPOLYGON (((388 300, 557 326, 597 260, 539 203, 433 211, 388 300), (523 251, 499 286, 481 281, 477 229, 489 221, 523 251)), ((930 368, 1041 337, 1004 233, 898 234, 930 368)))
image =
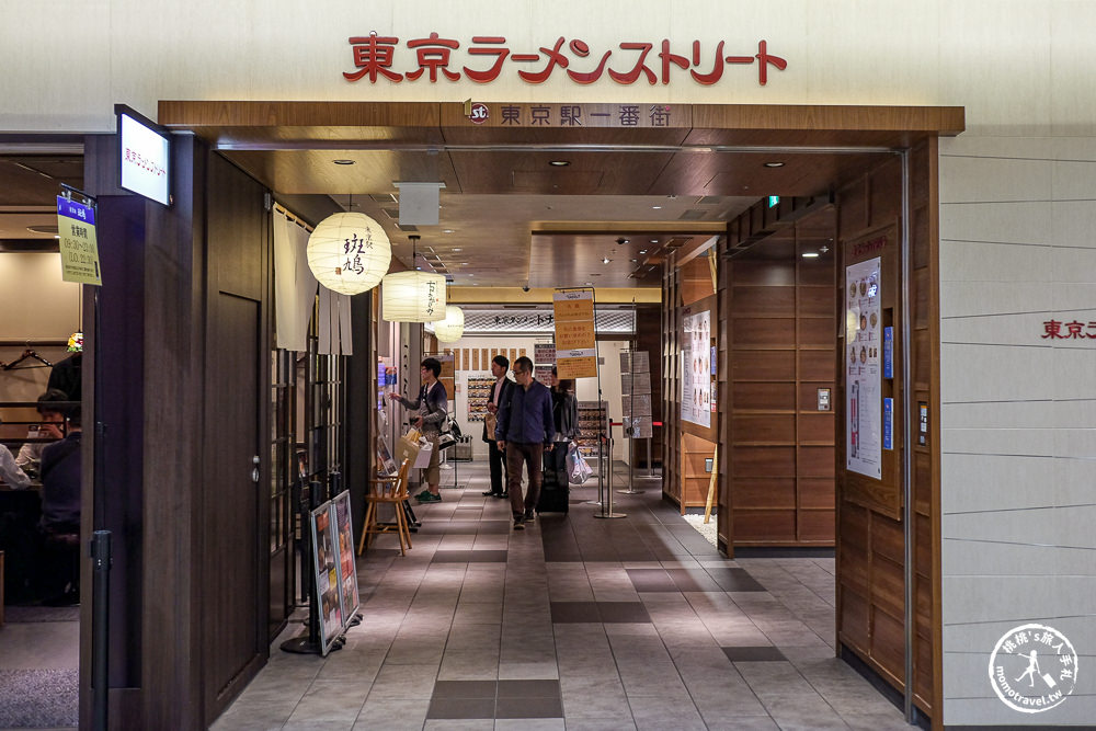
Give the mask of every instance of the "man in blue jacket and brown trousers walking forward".
POLYGON ((533 509, 540 496, 540 469, 544 452, 552 448, 556 426, 551 415, 551 392, 533 378, 533 361, 522 356, 514 361, 517 388, 499 407, 499 423, 494 437, 506 453, 506 481, 510 486, 510 507, 514 512, 514 530, 523 530, 533 519, 533 509), (529 473, 529 490, 522 500, 522 464, 529 473))

